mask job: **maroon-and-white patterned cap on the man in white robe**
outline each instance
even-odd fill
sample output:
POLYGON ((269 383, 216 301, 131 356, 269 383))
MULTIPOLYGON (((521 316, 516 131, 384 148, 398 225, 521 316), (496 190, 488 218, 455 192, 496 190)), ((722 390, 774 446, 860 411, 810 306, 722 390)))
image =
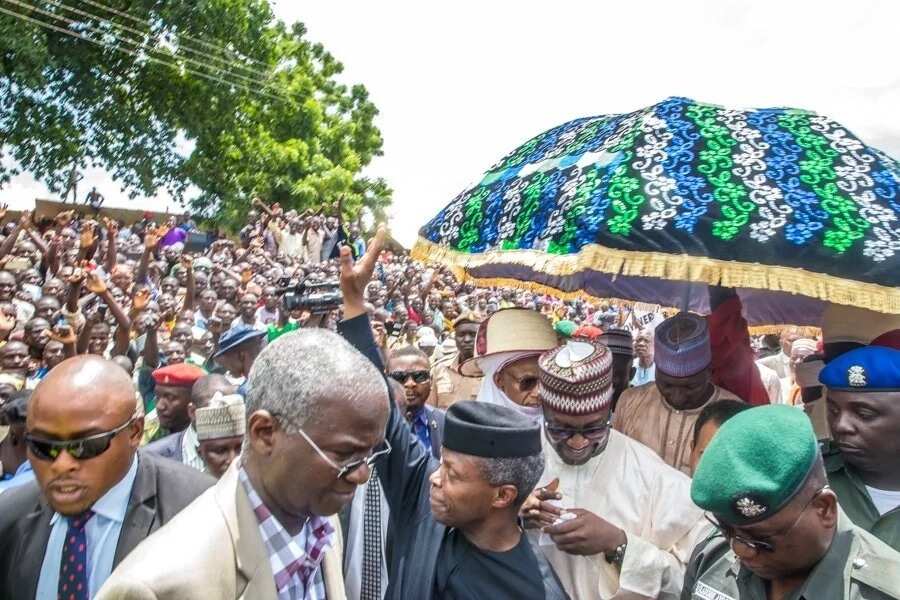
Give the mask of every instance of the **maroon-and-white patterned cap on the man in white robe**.
POLYGON ((603 344, 572 340, 544 353, 538 393, 544 406, 566 415, 586 415, 612 400, 612 353, 603 344))

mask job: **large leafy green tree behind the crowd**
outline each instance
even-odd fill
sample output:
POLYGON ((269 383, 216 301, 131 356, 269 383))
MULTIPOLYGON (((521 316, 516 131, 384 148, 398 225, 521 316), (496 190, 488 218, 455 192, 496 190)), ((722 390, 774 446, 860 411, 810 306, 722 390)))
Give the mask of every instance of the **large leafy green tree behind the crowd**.
POLYGON ((341 70, 265 0, 0 0, 0 156, 58 193, 73 165, 134 195, 193 184, 225 224, 254 195, 383 215, 390 189, 360 175, 378 111, 341 70))

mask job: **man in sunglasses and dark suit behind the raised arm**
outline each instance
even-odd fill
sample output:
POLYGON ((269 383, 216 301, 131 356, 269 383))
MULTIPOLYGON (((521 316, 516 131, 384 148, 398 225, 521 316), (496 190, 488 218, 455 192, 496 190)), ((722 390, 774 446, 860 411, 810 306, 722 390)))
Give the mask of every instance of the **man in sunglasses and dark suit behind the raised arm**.
POLYGON ((403 412, 413 433, 432 456, 440 458, 444 412, 426 404, 433 398, 428 357, 415 346, 398 348, 391 352, 388 376, 403 386, 403 412))

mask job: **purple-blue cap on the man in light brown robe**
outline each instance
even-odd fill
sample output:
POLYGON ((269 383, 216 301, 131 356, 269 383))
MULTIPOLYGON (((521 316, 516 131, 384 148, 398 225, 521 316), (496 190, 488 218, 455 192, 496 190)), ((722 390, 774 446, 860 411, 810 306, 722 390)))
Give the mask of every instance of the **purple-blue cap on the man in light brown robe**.
POLYGON ((656 370, 670 377, 691 377, 712 362, 706 319, 678 313, 656 328, 653 344, 656 370))

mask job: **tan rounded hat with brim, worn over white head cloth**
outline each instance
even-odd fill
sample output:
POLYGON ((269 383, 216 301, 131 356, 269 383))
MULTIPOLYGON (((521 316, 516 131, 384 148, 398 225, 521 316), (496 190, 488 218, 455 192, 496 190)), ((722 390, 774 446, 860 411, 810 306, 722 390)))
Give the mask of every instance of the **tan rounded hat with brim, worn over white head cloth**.
POLYGON ((481 377, 478 359, 501 352, 534 355, 556 348, 556 332, 550 320, 527 308, 498 310, 482 321, 475 336, 475 356, 460 365, 466 377, 481 377))

